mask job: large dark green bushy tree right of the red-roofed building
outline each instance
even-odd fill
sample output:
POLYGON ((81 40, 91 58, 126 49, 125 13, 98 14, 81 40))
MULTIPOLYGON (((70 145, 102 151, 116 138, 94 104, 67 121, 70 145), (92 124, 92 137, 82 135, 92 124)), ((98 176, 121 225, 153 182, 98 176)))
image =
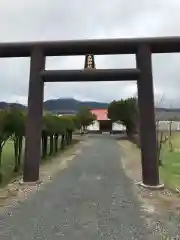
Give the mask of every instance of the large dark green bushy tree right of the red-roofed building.
POLYGON ((113 101, 108 107, 108 117, 113 121, 121 121, 126 127, 127 135, 137 130, 138 108, 135 98, 113 101))

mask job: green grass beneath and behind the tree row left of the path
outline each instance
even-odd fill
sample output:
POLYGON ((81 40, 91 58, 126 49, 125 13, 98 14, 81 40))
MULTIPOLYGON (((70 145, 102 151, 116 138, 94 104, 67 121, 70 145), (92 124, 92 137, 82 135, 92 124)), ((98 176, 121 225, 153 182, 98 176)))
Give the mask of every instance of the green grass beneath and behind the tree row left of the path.
MULTIPOLYGON (((78 141, 76 139, 74 139, 72 144, 75 144, 77 142, 78 141)), ((64 150, 59 151, 57 154, 60 154, 60 153, 64 152, 69 147, 70 147, 70 145, 67 146, 64 150)), ((48 144, 47 151, 49 152, 49 144, 48 144)), ((22 151, 22 160, 23 160, 23 155, 24 155, 24 151, 22 151)), ((51 160, 53 156, 55 156, 55 154, 50 156, 50 157, 47 157, 46 159, 43 159, 42 163, 46 162, 47 160, 51 160)), ((14 146, 13 146, 13 141, 9 140, 9 141, 6 142, 6 144, 3 148, 3 154, 2 154, 3 182, 0 184, 0 188, 4 187, 13 178, 17 177, 19 174, 22 173, 22 171, 20 173, 14 173, 13 169, 14 169, 14 146)))

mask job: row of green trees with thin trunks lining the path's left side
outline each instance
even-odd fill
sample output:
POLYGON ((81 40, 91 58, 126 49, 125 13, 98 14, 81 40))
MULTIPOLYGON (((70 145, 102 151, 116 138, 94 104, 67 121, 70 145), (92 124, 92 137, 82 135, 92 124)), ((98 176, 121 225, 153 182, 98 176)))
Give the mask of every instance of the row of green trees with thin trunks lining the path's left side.
MULTIPOLYGON (((2 182, 2 152, 8 140, 14 146, 14 172, 22 166, 24 153, 24 137, 26 111, 16 107, 0 110, 0 182, 2 182)), ((93 120, 87 108, 81 109, 76 116, 56 116, 50 113, 43 115, 41 153, 42 159, 52 156, 72 143, 72 135, 76 129, 85 128, 93 120)), ((4 159, 5 160, 5 159, 4 159)))

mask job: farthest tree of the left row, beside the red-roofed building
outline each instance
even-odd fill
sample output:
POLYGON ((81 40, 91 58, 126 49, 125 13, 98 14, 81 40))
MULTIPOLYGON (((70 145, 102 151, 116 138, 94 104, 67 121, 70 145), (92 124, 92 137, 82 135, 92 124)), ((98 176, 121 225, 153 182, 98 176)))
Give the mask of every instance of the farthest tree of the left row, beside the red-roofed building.
POLYGON ((92 114, 87 107, 82 107, 76 115, 77 121, 79 122, 80 128, 83 131, 86 130, 87 126, 96 120, 96 116, 92 114))

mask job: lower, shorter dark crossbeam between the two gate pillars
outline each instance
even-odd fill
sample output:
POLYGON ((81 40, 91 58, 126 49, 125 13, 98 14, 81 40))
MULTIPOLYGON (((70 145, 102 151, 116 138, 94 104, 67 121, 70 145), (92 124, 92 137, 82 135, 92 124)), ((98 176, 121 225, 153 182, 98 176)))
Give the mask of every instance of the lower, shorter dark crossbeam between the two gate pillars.
POLYGON ((138 69, 45 70, 44 82, 130 81, 139 78, 138 69))

